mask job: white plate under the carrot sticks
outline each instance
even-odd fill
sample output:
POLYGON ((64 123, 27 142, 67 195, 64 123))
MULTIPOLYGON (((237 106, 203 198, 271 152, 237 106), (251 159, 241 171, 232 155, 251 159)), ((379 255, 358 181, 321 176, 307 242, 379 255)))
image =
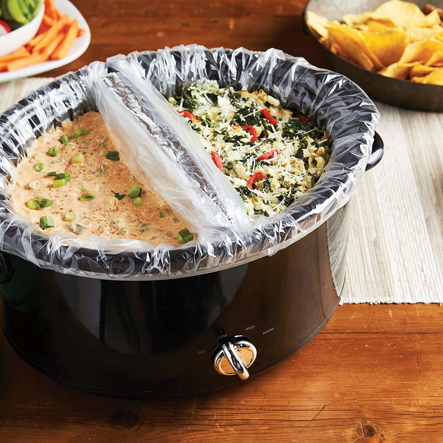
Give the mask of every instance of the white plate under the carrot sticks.
POLYGON ((55 0, 54 6, 60 11, 62 15, 67 14, 71 20, 77 19, 78 27, 85 30, 85 33, 74 40, 69 49, 68 54, 61 60, 51 60, 49 62, 36 63, 35 65, 26 66, 12 72, 0 72, 0 83, 9 82, 16 78, 29 77, 31 75, 41 74, 42 72, 50 71, 60 66, 67 65, 80 57, 88 48, 91 41, 91 31, 88 23, 83 18, 82 14, 69 0, 55 0))

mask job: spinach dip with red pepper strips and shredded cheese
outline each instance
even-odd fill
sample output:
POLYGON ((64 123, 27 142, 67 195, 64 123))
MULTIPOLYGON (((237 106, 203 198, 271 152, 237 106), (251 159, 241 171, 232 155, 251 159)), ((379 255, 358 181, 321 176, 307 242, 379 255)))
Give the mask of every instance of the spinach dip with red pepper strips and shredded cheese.
POLYGON ((190 85, 168 99, 198 133, 248 214, 279 214, 315 185, 330 159, 326 133, 263 90, 190 85))

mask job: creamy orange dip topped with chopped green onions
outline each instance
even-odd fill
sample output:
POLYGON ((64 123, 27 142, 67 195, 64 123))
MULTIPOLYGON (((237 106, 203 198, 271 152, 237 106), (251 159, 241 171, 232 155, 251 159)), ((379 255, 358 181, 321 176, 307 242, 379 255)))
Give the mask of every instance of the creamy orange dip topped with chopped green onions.
POLYGON ((194 234, 146 189, 117 152, 99 113, 65 121, 32 144, 11 201, 41 229, 179 245, 194 234))

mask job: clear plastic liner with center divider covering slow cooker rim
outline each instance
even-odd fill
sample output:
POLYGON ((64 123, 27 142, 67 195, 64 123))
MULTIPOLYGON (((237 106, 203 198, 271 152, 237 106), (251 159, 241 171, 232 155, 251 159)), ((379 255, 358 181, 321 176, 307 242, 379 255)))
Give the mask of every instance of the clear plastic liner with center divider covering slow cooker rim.
POLYGON ((346 204, 365 171, 379 118, 375 105, 349 79, 315 68, 303 58, 275 49, 208 50, 191 45, 117 56, 108 63, 94 62, 66 74, 0 116, 2 251, 79 276, 140 279, 210 272, 272 255, 299 240, 346 204), (202 155, 204 148, 183 125, 184 119, 171 113, 152 90, 153 85, 169 96, 200 78, 218 80, 221 86, 261 87, 330 135, 333 152, 323 175, 282 214, 247 217, 238 204, 241 198, 202 155), (7 178, 32 142, 67 118, 97 110, 129 165, 198 233, 196 240, 179 248, 154 248, 137 240, 76 237, 61 231, 49 235, 15 213, 7 178), (134 131, 130 140, 128 128, 134 131))

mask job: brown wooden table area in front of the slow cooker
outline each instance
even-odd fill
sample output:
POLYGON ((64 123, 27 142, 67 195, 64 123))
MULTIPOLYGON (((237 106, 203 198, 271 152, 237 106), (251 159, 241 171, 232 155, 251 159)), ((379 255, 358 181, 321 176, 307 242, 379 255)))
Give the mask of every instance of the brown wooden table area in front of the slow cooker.
POLYGON ((24 363, 0 337, 0 441, 441 443, 443 308, 348 304, 268 372, 205 396, 114 400, 24 363))

